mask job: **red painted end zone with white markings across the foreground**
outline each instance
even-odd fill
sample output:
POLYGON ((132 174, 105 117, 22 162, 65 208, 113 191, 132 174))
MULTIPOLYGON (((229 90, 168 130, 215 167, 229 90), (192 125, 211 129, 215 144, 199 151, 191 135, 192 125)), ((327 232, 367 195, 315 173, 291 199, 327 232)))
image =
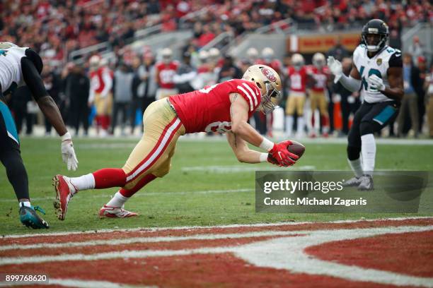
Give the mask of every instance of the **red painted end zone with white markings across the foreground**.
POLYGON ((74 287, 433 287, 433 218, 6 236, 0 271, 74 287))

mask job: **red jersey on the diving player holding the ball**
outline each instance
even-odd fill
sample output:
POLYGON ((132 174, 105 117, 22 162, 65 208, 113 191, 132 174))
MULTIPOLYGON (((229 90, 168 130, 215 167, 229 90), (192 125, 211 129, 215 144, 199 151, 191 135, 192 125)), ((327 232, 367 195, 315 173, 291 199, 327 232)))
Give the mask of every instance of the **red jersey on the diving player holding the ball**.
POLYGON ((248 118, 261 101, 260 89, 255 83, 233 79, 185 94, 169 98, 179 116, 186 133, 231 130, 230 93, 239 93, 250 107, 248 118))

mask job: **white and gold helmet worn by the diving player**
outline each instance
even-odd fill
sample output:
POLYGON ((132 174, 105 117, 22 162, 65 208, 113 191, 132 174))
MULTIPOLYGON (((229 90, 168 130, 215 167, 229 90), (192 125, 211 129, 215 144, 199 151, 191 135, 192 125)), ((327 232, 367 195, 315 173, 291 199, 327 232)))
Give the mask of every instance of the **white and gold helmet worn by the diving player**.
POLYGON ((262 94, 260 110, 268 114, 272 112, 282 99, 282 84, 278 73, 266 65, 253 65, 248 67, 242 79, 253 81, 262 94))

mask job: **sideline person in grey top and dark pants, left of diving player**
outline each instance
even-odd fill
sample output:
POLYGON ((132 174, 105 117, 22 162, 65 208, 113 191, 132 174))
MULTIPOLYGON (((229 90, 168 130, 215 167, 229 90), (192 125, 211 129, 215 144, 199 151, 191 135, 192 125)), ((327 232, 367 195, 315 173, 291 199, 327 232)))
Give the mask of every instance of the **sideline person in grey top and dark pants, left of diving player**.
POLYGON ((132 80, 134 79, 134 73, 131 68, 127 66, 125 62, 120 62, 118 68, 114 73, 113 82, 113 107, 112 107, 112 121, 111 121, 111 133, 115 133, 117 125, 117 117, 119 113, 122 113, 122 120, 120 122, 120 134, 125 135, 125 126, 127 122, 127 116, 130 113, 132 103, 132 80))

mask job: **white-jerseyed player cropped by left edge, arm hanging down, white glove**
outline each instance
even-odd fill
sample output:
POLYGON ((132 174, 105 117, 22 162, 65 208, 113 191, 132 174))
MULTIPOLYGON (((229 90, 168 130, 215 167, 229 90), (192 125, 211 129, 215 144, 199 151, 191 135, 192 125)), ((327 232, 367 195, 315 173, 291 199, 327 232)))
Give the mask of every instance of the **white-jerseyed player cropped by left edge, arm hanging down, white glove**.
POLYGON ((35 212, 39 210, 45 214, 42 208, 30 204, 28 176, 21 158, 20 139, 11 112, 6 106, 6 96, 13 97, 13 90, 27 85, 42 113, 62 136, 62 158, 67 162, 68 169, 75 170, 78 165, 71 135, 40 77, 42 68, 42 59, 33 49, 18 47, 11 42, 0 42, 0 160, 18 198, 20 220, 33 229, 48 228, 48 224, 35 212))

